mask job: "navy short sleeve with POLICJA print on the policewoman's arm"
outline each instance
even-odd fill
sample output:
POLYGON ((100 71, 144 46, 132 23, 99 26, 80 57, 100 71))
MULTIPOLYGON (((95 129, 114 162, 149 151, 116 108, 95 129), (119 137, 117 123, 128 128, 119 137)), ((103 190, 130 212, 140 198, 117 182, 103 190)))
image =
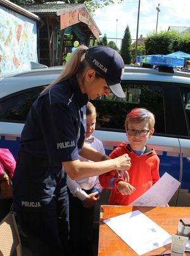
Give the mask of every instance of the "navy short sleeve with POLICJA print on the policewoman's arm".
MULTIPOLYGON (((46 101, 49 99, 46 98, 46 101)), ((40 120, 49 159, 52 162, 79 159, 77 139, 80 134, 77 118, 66 105, 49 104, 46 101, 42 101, 40 120)))

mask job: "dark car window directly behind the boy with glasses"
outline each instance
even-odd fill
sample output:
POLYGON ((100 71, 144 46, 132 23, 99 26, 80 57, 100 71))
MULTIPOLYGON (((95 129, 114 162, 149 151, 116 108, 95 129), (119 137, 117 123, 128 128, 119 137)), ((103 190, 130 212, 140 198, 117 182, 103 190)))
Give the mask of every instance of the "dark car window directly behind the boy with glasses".
POLYGON ((96 129, 123 130, 127 113, 132 108, 144 107, 155 114, 155 132, 165 133, 162 86, 129 84, 123 81, 125 98, 120 99, 110 93, 107 98, 100 96, 93 101, 98 112, 96 129))

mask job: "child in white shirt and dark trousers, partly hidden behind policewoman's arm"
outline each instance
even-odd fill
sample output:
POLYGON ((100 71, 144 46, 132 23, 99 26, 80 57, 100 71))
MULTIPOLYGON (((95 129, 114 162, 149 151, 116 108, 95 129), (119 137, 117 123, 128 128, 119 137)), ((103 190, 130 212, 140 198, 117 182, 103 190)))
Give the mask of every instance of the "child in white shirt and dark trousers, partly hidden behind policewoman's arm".
MULTIPOLYGON (((85 143, 105 154, 103 143, 92 136, 96 126, 96 108, 87 103, 86 111, 87 130, 85 143)), ((88 162, 83 157, 80 161, 88 162)), ((70 256, 92 256, 92 226, 94 220, 94 205, 99 200, 102 187, 98 176, 87 177, 73 181, 67 176, 70 211, 70 256)))

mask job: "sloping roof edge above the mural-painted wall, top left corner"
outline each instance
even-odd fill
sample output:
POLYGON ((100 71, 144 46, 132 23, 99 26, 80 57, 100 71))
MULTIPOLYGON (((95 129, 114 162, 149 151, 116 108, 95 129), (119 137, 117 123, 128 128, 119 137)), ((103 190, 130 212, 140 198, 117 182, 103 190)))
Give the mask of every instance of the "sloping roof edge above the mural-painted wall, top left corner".
POLYGON ((27 16, 28 18, 31 18, 32 20, 40 20, 41 18, 34 13, 18 6, 17 4, 11 3, 8 0, 0 0, 0 6, 4 6, 8 8, 9 10, 13 10, 16 13, 20 13, 21 15, 27 16))

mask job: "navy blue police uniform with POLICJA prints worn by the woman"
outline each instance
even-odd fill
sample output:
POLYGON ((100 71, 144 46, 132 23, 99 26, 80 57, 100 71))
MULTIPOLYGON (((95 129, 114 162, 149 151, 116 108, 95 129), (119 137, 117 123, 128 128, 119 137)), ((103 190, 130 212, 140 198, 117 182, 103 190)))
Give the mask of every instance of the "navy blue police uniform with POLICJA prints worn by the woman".
POLYGON ((18 222, 36 255, 66 255, 68 194, 61 162, 79 159, 88 99, 71 77, 42 93, 28 113, 13 191, 18 222))

